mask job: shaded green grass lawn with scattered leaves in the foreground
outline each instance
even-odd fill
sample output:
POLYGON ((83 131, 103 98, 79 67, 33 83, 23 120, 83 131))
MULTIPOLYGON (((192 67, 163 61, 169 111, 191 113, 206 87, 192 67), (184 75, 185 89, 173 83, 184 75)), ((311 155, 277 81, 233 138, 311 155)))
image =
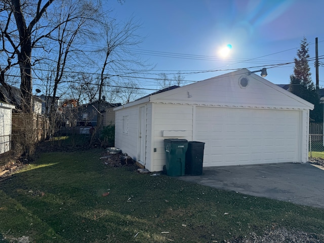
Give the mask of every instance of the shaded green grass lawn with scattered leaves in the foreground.
POLYGON ((324 234, 323 209, 109 167, 103 152, 41 153, 1 181, 0 241, 224 242, 279 227, 324 234))

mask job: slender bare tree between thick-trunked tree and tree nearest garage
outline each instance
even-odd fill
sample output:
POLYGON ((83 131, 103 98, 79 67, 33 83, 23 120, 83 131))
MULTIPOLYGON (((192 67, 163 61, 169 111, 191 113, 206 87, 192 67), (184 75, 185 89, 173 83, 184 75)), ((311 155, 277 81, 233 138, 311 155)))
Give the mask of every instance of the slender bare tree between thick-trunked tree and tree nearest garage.
MULTIPOLYGON (((78 54, 82 54, 83 51, 80 50, 80 45, 94 36, 94 32, 91 31, 92 24, 100 15, 98 3, 94 1, 64 0, 60 4, 54 19, 54 23, 58 27, 48 36, 54 41, 52 44, 56 46, 55 53, 57 53, 53 60, 56 64, 53 97, 57 94, 65 69, 71 70, 77 66, 78 63, 75 60, 77 60, 78 54)), ((55 112, 54 107, 55 99, 52 100, 51 113, 55 112)))

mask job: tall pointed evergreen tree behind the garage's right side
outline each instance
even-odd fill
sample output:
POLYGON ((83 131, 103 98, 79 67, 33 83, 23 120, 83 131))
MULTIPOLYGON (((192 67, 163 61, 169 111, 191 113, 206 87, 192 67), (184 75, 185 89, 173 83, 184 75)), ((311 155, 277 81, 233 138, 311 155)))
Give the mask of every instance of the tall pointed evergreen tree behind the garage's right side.
POLYGON ((294 74, 290 76, 291 93, 307 100, 314 105, 314 109, 310 111, 309 116, 311 121, 323 121, 323 104, 320 104, 318 92, 311 79, 310 67, 308 65, 308 43, 304 37, 300 44, 300 49, 297 51, 298 58, 295 58, 294 74))

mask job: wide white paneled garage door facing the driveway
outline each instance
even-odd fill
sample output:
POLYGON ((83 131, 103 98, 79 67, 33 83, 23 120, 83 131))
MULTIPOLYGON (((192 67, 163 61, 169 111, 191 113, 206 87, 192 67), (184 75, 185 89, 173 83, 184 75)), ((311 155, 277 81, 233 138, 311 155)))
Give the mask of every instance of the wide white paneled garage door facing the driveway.
POLYGON ((299 111, 197 107, 204 167, 298 161, 299 111))

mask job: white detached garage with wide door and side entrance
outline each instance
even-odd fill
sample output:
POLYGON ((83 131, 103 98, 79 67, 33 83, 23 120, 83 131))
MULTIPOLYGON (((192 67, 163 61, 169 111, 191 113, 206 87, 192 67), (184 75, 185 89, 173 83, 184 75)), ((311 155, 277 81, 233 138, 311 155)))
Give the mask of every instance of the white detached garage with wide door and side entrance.
POLYGON ((164 139, 205 142, 204 167, 306 163, 314 106, 240 69, 115 108, 115 147, 149 171, 164 139))

